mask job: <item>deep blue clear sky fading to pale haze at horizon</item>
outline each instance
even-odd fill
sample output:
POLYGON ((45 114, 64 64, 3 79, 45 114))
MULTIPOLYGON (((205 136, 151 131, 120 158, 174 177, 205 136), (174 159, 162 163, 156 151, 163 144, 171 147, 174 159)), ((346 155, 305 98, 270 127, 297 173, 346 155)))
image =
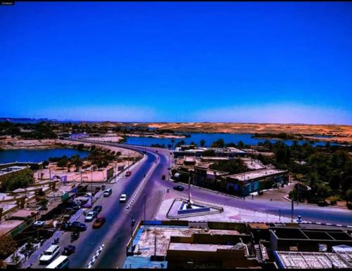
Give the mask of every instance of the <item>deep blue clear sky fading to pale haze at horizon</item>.
POLYGON ((352 124, 352 3, 0 6, 0 117, 352 124))

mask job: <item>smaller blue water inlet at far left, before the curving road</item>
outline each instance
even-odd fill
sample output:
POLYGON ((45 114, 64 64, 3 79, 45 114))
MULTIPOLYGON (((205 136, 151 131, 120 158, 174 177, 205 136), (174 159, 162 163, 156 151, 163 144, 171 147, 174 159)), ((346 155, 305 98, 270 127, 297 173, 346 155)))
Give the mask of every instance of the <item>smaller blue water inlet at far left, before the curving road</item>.
POLYGON ((40 162, 49 159, 49 157, 62 157, 66 155, 71 157, 73 155, 80 155, 80 157, 87 157, 88 151, 80 151, 70 148, 58 148, 47 150, 4 150, 0 151, 0 164, 19 162, 40 162))

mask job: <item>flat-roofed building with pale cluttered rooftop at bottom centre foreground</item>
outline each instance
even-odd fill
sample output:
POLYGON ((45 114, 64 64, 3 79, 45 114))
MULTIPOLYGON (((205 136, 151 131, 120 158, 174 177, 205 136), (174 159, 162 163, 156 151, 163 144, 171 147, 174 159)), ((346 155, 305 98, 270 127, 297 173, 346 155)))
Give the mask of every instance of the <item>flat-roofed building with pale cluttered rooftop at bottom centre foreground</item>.
POLYGON ((127 244, 124 268, 260 267, 245 223, 146 221, 127 244))

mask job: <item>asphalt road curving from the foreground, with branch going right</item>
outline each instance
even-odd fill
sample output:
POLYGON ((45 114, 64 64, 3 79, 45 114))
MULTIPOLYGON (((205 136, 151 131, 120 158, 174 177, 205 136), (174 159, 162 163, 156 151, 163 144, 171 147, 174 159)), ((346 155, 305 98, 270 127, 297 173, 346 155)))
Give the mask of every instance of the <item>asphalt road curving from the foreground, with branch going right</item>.
MULTIPOLYGON (((92 222, 86 223, 87 231, 81 232, 80 238, 73 242, 73 245, 76 246, 76 252, 70 256, 70 268, 87 267, 90 258, 92 258, 96 249, 98 249, 101 244, 104 244, 105 247, 93 267, 123 267, 122 265, 126 257, 126 245, 131 234, 131 218, 136 220, 136 225, 139 220, 144 219, 144 194, 146 198, 146 220, 151 220, 157 211, 159 204, 161 204, 165 189, 172 189, 175 185, 175 183, 168 180, 161 180, 163 174, 168 178, 168 156, 170 150, 142 146, 126 146, 117 143, 97 142, 96 144, 127 147, 133 150, 139 150, 140 152, 146 150, 146 161, 134 168, 130 177, 122 177, 117 183, 106 185, 106 187, 111 187, 113 189, 113 194, 111 194, 111 197, 101 197, 94 204, 94 206, 103 206, 103 211, 101 211, 99 216, 106 217, 106 223, 99 230, 92 229, 92 222), (158 150, 158 154, 156 154, 155 150, 158 150), (139 194, 139 197, 137 197, 130 209, 126 209, 125 207, 127 203, 120 204, 119 202, 120 194, 126 193, 128 202, 134 190, 136 190, 139 183, 143 180, 144 174, 149 171, 156 161, 158 164, 153 170, 153 173, 151 173, 150 178, 146 181, 146 185, 144 185, 141 194, 139 194)), ((185 187, 185 190, 180 192, 180 194, 187 197, 187 185, 183 186, 185 187)), ((263 201, 251 200, 249 198, 243 200, 196 187, 192 187, 191 194, 194 199, 199 199, 201 201, 272 213, 275 215, 279 214, 280 209, 282 216, 291 216, 291 203, 288 201, 275 201, 275 203, 268 201, 265 203, 263 201)), ((301 215, 303 220, 310 220, 313 222, 352 225, 352 212, 348 210, 306 206, 303 204, 300 204, 299 206, 295 205, 294 207, 295 218, 298 215, 301 215)), ((84 222, 84 216, 81 216, 78 221, 84 222)), ((61 237, 60 245, 63 248, 63 246, 67 246, 68 244, 70 244, 70 232, 65 232, 61 237)))

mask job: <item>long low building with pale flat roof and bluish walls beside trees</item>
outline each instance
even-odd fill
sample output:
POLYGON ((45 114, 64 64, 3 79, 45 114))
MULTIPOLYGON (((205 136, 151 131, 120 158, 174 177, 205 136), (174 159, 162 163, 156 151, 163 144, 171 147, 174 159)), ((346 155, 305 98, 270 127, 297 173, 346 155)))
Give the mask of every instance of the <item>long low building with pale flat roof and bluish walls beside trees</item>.
POLYGON ((226 190, 230 194, 248 196, 252 192, 268 189, 273 183, 287 183, 287 171, 264 168, 226 176, 226 190))

